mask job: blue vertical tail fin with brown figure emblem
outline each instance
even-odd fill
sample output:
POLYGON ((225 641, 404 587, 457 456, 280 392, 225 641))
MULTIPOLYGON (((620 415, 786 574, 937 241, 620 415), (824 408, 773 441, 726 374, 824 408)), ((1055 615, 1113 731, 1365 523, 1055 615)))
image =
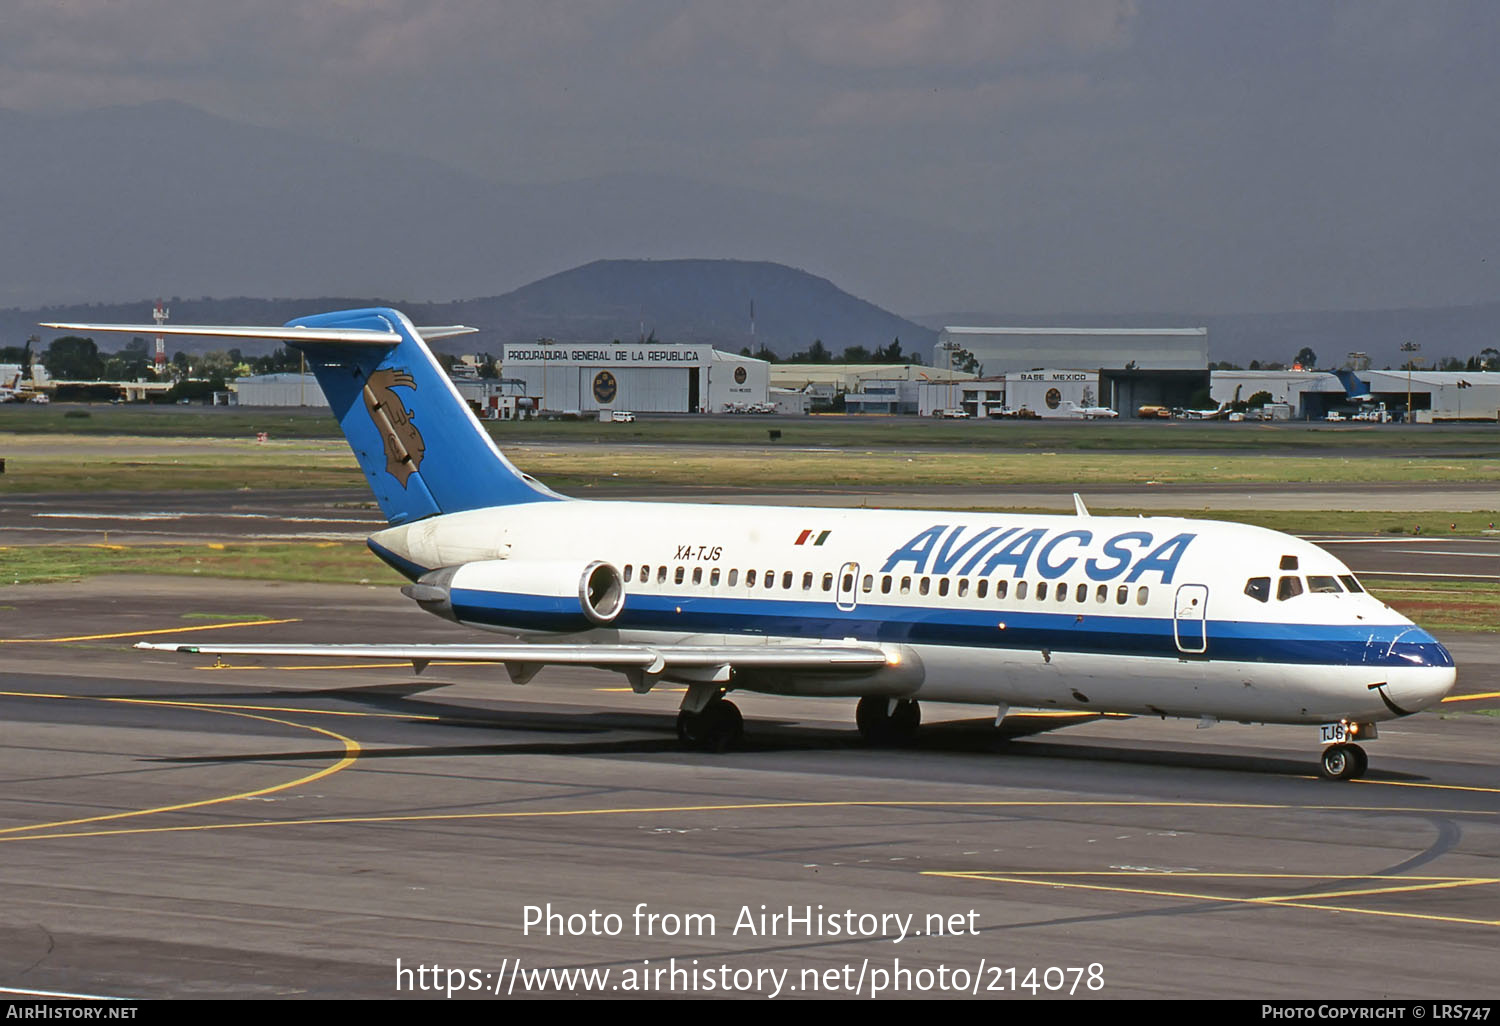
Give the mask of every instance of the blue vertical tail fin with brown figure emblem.
POLYGON ((387 308, 338 310, 288 327, 375 328, 400 342, 297 342, 392 524, 489 506, 561 498, 524 476, 432 357, 417 328, 387 308))

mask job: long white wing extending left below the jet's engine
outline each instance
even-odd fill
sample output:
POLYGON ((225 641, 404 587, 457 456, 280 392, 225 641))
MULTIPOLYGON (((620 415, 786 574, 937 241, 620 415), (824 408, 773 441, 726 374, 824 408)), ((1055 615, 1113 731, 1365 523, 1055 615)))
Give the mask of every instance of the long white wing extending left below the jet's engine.
POLYGON ((504 663, 512 680, 543 666, 591 666, 648 676, 711 675, 728 680, 730 669, 870 674, 897 666, 902 654, 878 645, 174 645, 140 642, 136 648, 189 656, 296 656, 392 658, 417 672, 429 663, 504 663))

